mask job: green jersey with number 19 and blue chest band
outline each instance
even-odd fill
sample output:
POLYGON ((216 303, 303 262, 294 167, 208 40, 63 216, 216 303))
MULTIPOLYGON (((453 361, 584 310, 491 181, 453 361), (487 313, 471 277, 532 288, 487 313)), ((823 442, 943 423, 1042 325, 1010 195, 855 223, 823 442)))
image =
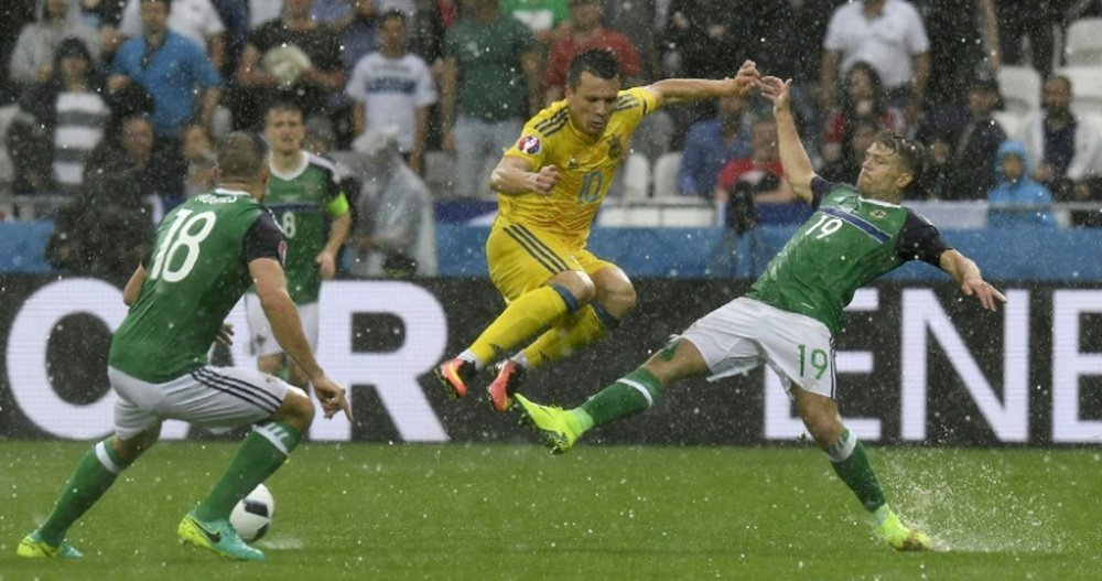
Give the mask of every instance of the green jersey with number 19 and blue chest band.
POLYGON ((853 293, 908 260, 939 266, 946 244, 926 218, 896 204, 863 197, 849 184, 815 176, 815 213, 769 261, 747 297, 842 326, 853 293))

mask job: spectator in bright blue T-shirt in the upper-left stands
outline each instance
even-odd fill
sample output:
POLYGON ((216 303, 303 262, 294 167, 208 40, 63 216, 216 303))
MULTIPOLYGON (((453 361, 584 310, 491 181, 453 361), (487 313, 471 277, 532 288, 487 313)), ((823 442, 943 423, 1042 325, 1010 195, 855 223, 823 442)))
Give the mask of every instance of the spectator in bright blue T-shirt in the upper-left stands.
POLYGON ((169 30, 172 0, 139 1, 144 32, 119 47, 107 89, 114 94, 130 83, 141 85, 153 99, 150 120, 159 139, 177 140, 193 120, 212 127, 222 77, 203 49, 169 30))

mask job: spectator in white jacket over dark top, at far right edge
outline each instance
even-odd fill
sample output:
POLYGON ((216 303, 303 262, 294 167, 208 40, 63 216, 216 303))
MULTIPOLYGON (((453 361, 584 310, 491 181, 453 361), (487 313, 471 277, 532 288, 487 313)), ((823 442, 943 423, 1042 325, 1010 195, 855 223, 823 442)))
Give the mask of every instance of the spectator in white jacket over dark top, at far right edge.
POLYGON ((1092 119, 1072 112, 1071 95, 1071 79, 1049 76, 1041 90, 1041 108, 1026 116, 1018 133, 1034 179, 1063 201, 1076 195, 1077 189, 1077 197, 1090 197, 1088 180, 1102 175, 1102 131, 1092 119))

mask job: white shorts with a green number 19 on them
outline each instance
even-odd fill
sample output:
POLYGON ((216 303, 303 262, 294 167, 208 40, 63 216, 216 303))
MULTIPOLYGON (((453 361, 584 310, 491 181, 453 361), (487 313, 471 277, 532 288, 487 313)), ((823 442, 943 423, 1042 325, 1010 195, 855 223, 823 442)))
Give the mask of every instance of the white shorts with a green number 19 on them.
POLYGON ((709 380, 768 364, 785 390, 834 397, 834 340, 821 322, 745 297, 696 320, 680 335, 696 346, 709 380))

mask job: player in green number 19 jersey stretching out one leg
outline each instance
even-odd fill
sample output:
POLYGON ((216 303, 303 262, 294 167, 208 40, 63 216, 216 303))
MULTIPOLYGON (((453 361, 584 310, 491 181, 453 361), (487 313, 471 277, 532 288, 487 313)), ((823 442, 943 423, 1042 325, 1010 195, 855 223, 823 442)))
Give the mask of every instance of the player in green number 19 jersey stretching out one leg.
POLYGON ((765 77, 759 87, 774 104, 785 176, 815 213, 745 297, 699 319, 580 407, 563 410, 515 397, 552 452, 563 453, 592 428, 645 411, 679 379, 717 379, 767 364, 834 472, 873 515, 878 535, 898 550, 929 549, 929 538, 888 506, 865 448, 839 415, 834 335, 842 310, 858 288, 908 260, 944 270, 984 309, 994 311, 1006 298, 937 228, 900 205, 921 176, 920 144, 882 133, 865 153, 856 187, 830 183, 815 175, 800 143, 789 108, 791 80, 765 77))

